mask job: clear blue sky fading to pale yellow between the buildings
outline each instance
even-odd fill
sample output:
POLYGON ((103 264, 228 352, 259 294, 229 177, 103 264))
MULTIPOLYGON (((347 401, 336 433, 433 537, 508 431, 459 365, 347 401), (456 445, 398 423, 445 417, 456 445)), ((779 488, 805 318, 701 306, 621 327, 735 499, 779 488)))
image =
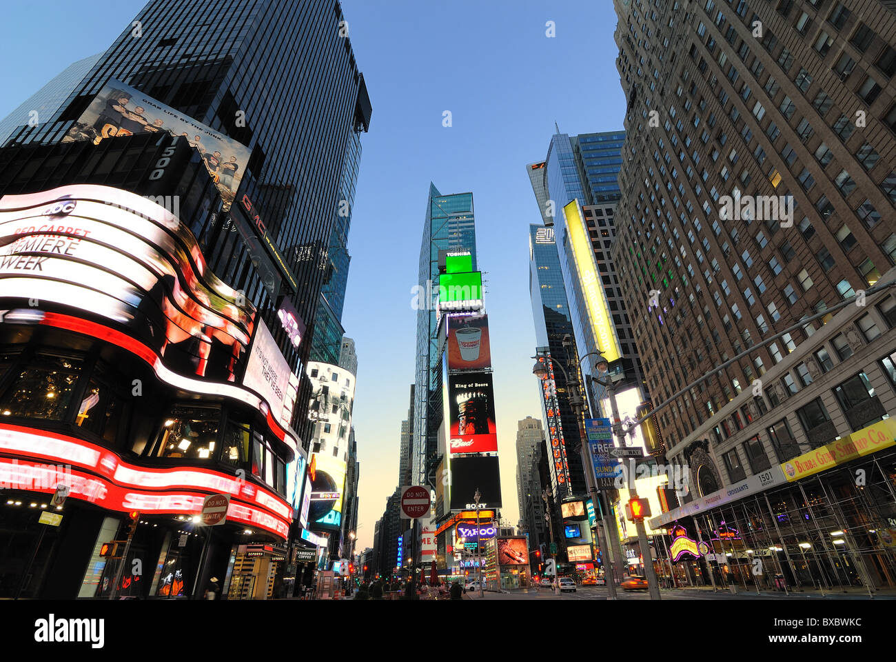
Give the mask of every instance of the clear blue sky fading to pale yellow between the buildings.
MULTIPOLYGON (((105 50, 142 0, 7 2, 0 118, 82 57, 105 50), (47 41, 43 15, 64 16, 47 41), (34 48, 35 44, 44 48, 34 48), (47 46, 49 45, 49 46, 47 46), (16 55, 16 53, 20 55, 16 55), (27 54, 25 57, 24 54, 27 54)), ((539 222, 525 165, 544 159, 554 123, 570 135, 621 129, 616 14, 608 0, 343 0, 373 104, 349 236, 343 326, 358 349, 354 425, 361 462, 358 550, 398 480, 401 421, 414 379, 426 194, 472 191, 495 370, 504 518, 516 523, 516 422, 540 418, 531 375, 528 227, 539 222), (556 37, 546 36, 546 22, 556 37), (452 126, 442 126, 443 112, 452 126)))

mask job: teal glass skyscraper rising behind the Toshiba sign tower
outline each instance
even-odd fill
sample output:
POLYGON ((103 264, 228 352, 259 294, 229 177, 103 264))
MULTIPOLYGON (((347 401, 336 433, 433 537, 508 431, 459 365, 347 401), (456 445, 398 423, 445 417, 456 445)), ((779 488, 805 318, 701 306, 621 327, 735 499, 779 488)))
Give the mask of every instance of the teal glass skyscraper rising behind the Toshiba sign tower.
POLYGON ((438 424, 442 421, 442 367, 433 293, 438 293, 439 254, 448 250, 470 251, 473 271, 478 269, 473 194, 443 196, 430 183, 418 272, 421 295, 417 311, 416 410, 411 450, 412 477, 421 484, 435 484, 439 460, 436 454, 438 424))

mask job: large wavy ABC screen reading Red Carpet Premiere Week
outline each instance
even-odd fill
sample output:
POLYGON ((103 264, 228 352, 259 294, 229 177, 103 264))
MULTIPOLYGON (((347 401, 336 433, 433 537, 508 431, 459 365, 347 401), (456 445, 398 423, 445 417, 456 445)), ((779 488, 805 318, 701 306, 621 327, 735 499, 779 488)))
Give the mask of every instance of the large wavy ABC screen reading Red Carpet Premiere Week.
POLYGON ((255 323, 252 303, 208 271, 176 216, 90 184, 0 198, 0 299, 124 332, 169 383, 169 373, 236 382, 255 323))

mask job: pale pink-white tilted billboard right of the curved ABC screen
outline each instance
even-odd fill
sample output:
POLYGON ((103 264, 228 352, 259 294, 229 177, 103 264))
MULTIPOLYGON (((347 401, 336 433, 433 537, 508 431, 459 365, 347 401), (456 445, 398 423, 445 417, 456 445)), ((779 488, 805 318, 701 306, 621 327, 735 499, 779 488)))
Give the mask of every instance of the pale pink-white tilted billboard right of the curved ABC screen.
POLYGON ((280 353, 273 335, 263 320, 258 319, 243 386, 252 388, 262 396, 271 410, 271 416, 285 426, 289 426, 289 418, 283 420, 283 414, 291 414, 296 403, 296 391, 289 388, 291 375, 289 363, 280 353))

